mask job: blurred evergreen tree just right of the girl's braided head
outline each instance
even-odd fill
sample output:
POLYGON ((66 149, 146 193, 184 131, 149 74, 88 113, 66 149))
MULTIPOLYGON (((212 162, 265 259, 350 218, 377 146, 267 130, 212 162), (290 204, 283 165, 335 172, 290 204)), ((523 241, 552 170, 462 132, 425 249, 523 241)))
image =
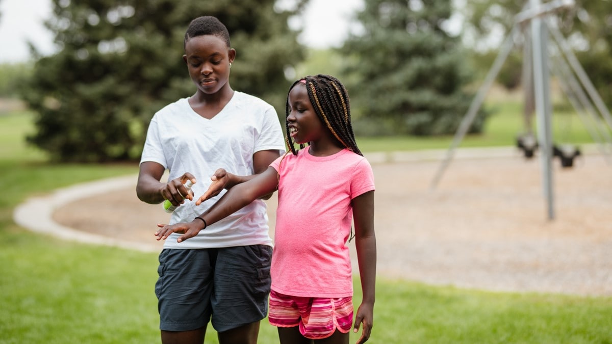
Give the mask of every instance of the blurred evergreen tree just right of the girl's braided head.
MULTIPOLYGON (((364 28, 342 51, 361 134, 453 133, 472 94, 461 43, 444 29, 448 0, 365 0, 357 13, 364 28)), ((480 131, 483 115, 472 124, 480 131)))

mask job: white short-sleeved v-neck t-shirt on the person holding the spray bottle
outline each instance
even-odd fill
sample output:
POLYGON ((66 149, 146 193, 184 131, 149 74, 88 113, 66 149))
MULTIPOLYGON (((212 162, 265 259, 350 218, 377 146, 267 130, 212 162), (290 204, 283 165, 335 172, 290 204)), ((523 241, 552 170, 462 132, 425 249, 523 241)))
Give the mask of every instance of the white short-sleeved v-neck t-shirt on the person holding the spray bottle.
MULTIPOLYGON (((195 206, 218 168, 241 176, 253 174, 253 154, 269 149, 285 152, 285 138, 274 107, 258 97, 234 91, 230 102, 212 119, 193 111, 188 98, 157 111, 149 124, 140 162, 160 163, 170 171, 168 180, 185 172, 195 176, 194 200, 185 200, 176 208, 170 219, 174 224, 191 222, 226 192, 195 206)), ((180 234, 171 234, 164 248, 272 245, 267 220, 266 203, 256 200, 184 242, 176 242, 180 234)), ((156 225, 151 223, 151 233, 157 230, 156 225)))

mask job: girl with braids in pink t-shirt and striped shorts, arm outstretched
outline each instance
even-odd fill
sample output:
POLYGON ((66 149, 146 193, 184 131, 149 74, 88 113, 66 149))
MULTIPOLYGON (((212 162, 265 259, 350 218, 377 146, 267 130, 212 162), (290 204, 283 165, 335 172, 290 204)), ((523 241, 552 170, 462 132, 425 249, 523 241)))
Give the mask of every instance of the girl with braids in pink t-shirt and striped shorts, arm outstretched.
POLYGON ((196 204, 225 193, 189 223, 159 224, 157 239, 182 242, 207 225, 278 190, 269 321, 280 343, 348 343, 349 331, 370 337, 376 279, 374 177, 357 148, 349 98, 329 75, 297 80, 286 103, 289 152, 257 176, 219 169, 196 204), (296 150, 294 143, 299 144, 296 150), (305 148, 308 144, 308 148, 305 148), (353 326, 349 241, 354 223, 363 299, 353 326))

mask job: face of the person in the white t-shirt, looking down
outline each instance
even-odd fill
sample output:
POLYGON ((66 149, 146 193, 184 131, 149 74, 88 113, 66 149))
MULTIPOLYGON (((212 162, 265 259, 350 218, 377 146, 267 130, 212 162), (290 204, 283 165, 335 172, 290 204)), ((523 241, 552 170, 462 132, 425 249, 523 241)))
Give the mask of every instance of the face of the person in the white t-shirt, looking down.
POLYGON ((228 83, 235 57, 236 50, 228 48, 222 39, 204 35, 187 40, 183 60, 198 90, 215 94, 228 83))

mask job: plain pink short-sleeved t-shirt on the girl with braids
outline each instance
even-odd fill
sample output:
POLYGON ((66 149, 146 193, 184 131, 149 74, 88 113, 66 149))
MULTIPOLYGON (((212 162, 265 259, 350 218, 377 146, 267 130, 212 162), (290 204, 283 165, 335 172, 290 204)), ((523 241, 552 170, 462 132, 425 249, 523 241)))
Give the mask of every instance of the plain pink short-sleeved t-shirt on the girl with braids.
POLYGON ((291 296, 352 296, 346 245, 353 221, 351 200, 374 190, 370 163, 348 149, 315 157, 306 148, 271 166, 280 176, 272 289, 291 296))

